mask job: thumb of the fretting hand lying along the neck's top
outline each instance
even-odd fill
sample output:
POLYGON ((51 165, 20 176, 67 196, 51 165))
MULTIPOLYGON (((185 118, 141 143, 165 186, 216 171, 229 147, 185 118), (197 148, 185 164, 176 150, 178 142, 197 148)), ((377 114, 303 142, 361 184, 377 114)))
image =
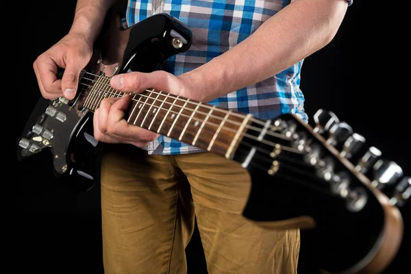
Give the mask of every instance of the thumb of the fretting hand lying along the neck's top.
POLYGON ((176 79, 177 77, 165 71, 154 71, 152 73, 133 72, 114 75, 110 80, 110 85, 125 92, 141 92, 148 88, 171 92, 182 88, 176 79))

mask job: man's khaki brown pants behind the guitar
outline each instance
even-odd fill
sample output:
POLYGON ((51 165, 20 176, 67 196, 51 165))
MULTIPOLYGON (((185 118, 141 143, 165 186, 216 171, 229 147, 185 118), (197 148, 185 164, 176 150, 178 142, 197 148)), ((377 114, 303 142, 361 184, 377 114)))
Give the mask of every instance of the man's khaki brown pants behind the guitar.
POLYGON ((263 229, 245 219, 250 186, 240 164, 212 153, 107 149, 101 172, 105 273, 186 273, 195 216, 208 273, 297 273, 299 229, 263 229))

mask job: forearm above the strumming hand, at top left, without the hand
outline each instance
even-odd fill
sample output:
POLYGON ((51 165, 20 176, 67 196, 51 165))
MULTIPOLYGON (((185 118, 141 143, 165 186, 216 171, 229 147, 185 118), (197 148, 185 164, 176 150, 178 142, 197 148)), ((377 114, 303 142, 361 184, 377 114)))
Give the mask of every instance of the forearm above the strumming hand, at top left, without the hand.
POLYGON ((95 42, 108 10, 118 0, 78 0, 70 32, 95 42))

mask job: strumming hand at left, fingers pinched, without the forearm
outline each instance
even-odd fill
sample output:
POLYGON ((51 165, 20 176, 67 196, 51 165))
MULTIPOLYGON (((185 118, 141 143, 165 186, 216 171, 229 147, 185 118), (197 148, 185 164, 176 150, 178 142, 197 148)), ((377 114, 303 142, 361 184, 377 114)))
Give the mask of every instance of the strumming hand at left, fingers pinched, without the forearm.
POLYGON ((90 62, 91 56, 91 42, 75 33, 67 34, 38 56, 33 68, 42 97, 55 99, 64 96, 73 99, 80 71, 90 62), (61 80, 57 79, 58 68, 65 69, 61 80))

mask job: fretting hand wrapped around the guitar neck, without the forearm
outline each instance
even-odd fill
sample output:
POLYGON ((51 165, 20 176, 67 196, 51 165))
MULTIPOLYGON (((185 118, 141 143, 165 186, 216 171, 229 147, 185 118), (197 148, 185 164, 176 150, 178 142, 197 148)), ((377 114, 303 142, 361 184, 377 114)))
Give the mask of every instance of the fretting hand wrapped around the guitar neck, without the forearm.
MULTIPOLYGON (((153 73, 125 73, 115 75, 110 82, 112 88, 123 92, 139 93, 148 88, 162 90, 173 95, 190 99, 195 94, 189 92, 185 77, 175 77, 165 71, 153 73)), ((103 99, 94 114, 94 136, 96 140, 110 143, 125 143, 136 147, 145 147, 158 138, 159 134, 127 123, 125 112, 132 101, 132 96, 103 99)))

